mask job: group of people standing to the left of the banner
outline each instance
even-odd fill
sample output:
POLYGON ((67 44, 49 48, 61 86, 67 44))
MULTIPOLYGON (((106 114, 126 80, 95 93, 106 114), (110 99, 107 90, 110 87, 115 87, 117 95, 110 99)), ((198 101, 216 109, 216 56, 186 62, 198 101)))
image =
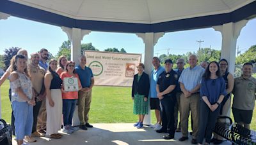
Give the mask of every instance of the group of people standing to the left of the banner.
POLYGON ((67 61, 65 56, 49 62, 48 50, 39 53, 19 50, 0 79, 0 86, 10 76, 10 101, 12 104, 12 128, 17 144, 35 142, 34 137, 45 134, 60 139, 58 133, 71 134, 79 128, 93 127, 88 122, 88 113, 94 85, 93 73, 86 67, 86 57, 79 57, 79 64, 67 61), (78 88, 65 90, 65 78, 76 78, 78 88), (78 101, 78 103, 77 103, 78 101), (79 128, 72 126, 72 118, 78 104, 79 128))

